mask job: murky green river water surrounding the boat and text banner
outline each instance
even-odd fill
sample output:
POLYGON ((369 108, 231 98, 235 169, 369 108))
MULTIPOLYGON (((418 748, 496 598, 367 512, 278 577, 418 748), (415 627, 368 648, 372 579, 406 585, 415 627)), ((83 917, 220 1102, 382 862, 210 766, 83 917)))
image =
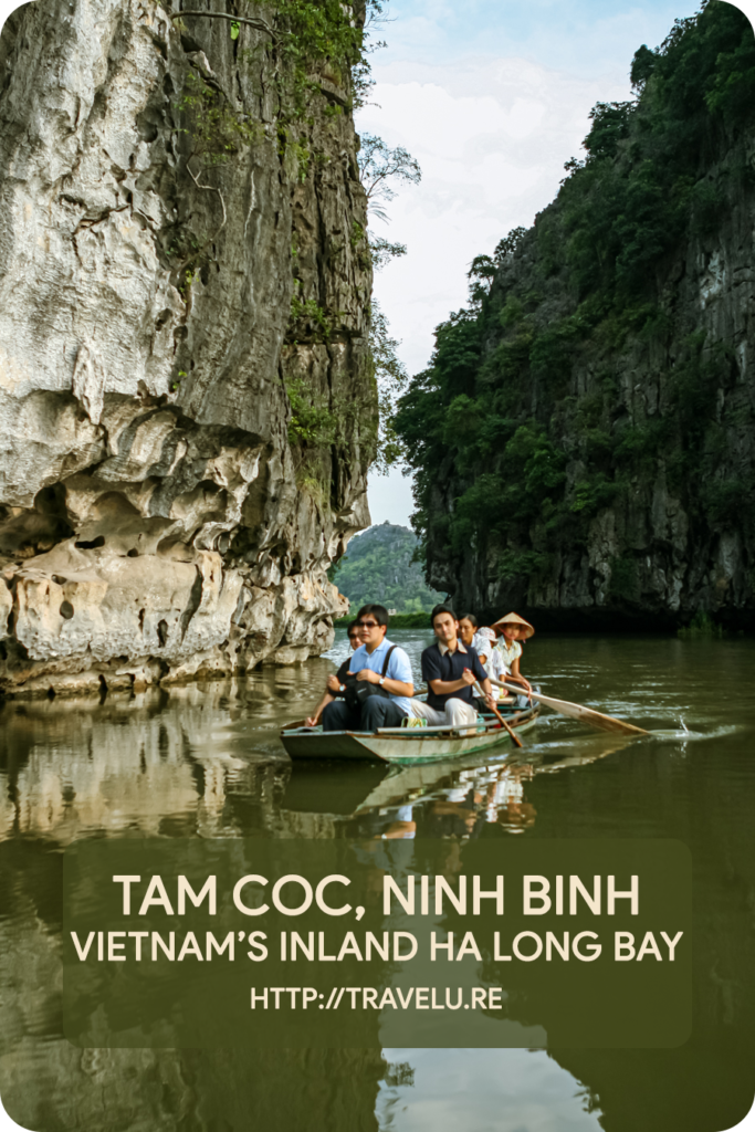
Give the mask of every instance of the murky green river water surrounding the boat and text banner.
MULTIPOLYGON (((397 631, 419 676, 427 634, 397 631)), ((723 1132, 753 1104, 755 642, 535 637, 525 749, 402 771, 292 766, 346 655, 131 698, 0 709, 0 1101, 29 1132, 723 1132), (678 1049, 86 1049, 61 1036, 61 859, 91 838, 678 838, 694 861, 694 1030, 678 1049)), ((419 680, 418 680, 419 683, 419 680)))

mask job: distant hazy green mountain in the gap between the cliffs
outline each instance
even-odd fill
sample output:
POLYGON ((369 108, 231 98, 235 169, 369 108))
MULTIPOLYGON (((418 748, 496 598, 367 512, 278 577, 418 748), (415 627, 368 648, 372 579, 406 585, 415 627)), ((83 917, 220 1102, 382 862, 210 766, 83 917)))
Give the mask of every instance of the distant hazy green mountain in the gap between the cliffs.
POLYGON ((418 538, 406 526, 383 523, 355 535, 328 577, 349 598, 351 611, 377 601, 398 614, 429 611, 445 594, 431 590, 412 561, 418 538))

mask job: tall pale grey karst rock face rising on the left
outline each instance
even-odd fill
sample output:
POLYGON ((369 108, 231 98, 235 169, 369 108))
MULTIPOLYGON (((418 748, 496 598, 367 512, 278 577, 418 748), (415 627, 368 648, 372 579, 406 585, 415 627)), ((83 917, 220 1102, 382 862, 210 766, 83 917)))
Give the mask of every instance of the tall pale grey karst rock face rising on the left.
POLYGON ((9 694, 320 653, 369 523, 348 79, 320 67, 297 115, 274 6, 235 40, 178 10, 35 0, 0 34, 9 694))

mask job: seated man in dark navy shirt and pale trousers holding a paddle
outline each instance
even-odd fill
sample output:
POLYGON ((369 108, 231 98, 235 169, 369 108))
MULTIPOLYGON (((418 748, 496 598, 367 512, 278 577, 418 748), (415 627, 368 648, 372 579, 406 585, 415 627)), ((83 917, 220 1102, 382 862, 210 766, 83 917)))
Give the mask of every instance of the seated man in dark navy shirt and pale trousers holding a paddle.
POLYGON ((464 727, 477 723, 474 684, 480 683, 487 706, 492 689, 488 674, 475 650, 458 638, 458 620, 448 606, 436 606, 430 623, 438 638, 422 653, 422 678, 427 681, 427 703, 412 700, 413 715, 427 719, 430 727, 464 727))

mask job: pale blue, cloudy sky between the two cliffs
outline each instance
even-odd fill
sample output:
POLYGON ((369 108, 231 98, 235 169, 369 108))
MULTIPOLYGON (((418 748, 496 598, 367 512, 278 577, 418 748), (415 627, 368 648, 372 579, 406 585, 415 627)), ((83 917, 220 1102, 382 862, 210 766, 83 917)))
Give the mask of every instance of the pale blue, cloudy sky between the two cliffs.
MULTIPOLYGON (((376 235, 407 254, 375 277, 375 297, 410 374, 434 328, 466 303, 466 272, 513 228, 530 228, 581 156, 595 102, 632 97, 637 48, 655 48, 689 0, 389 0, 372 38, 371 105, 357 129, 404 146, 422 169, 376 235)), ((374 523, 409 525, 411 478, 370 474, 374 523)))

